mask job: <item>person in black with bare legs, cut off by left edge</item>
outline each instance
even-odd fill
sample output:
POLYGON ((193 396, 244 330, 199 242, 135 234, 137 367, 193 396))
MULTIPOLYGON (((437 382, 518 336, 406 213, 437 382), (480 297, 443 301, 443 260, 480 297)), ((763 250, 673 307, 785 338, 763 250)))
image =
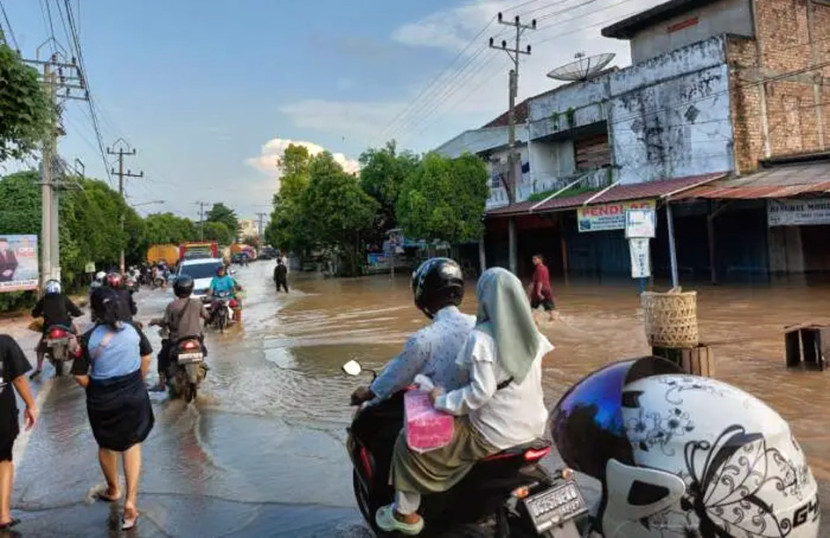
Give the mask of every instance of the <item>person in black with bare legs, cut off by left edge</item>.
POLYGON ((31 430, 37 423, 37 405, 32 398, 29 382, 23 375, 31 369, 32 365, 26 360, 17 342, 9 335, 0 334, 0 534, 20 523, 11 513, 14 485, 12 448, 20 433, 17 400, 12 387, 26 404, 23 416, 26 429, 31 430))

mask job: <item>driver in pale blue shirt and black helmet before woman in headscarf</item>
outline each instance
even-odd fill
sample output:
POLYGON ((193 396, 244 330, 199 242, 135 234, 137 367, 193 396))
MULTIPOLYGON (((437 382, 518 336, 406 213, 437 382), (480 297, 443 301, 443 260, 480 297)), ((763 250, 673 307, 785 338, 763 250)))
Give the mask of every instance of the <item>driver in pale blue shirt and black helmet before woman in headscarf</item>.
POLYGON ((461 267, 448 258, 431 258, 412 273, 415 306, 433 323, 412 335, 398 354, 369 387, 352 394, 352 404, 375 404, 389 398, 418 374, 436 385, 453 390, 466 382, 456 357, 475 325, 475 316, 463 314, 458 305, 464 298, 461 267))

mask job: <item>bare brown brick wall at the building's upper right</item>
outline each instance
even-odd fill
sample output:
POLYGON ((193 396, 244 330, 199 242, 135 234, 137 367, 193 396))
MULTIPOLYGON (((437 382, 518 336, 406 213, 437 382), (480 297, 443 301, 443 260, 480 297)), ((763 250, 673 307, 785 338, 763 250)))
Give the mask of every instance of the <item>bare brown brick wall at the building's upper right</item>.
MULTIPOLYGON (((764 158, 764 86, 758 81, 808 69, 813 54, 816 64, 830 62, 830 6, 808 0, 757 0, 756 4, 762 61, 758 62, 755 40, 731 37, 727 42, 736 164, 741 173, 753 171, 764 158)), ((772 156, 830 149, 830 66, 767 82, 765 87, 772 156), (823 120, 823 145, 817 111, 823 120)))

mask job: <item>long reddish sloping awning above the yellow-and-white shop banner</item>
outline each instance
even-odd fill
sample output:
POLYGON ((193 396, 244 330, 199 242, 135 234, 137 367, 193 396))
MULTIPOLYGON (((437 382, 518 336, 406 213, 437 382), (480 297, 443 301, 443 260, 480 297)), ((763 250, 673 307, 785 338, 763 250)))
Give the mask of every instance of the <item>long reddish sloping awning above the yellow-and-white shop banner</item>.
POLYGON ((727 174, 727 172, 718 172, 715 174, 689 176, 663 181, 635 183, 633 185, 615 185, 604 192, 586 192, 577 194, 576 196, 553 198, 536 208, 534 208, 534 206, 538 205, 538 202, 521 202, 511 206, 491 209, 490 211, 487 211, 486 217, 497 218, 527 215, 530 213, 550 213, 554 211, 574 209, 582 205, 600 205, 612 202, 627 202, 629 200, 654 198, 671 198, 672 200, 675 200, 677 199, 677 195, 686 192, 689 189, 696 189, 704 185, 708 185, 713 181, 723 179, 727 176, 727 174), (601 194, 599 194, 600 192, 601 194), (597 196, 597 194, 599 194, 599 196, 597 196))

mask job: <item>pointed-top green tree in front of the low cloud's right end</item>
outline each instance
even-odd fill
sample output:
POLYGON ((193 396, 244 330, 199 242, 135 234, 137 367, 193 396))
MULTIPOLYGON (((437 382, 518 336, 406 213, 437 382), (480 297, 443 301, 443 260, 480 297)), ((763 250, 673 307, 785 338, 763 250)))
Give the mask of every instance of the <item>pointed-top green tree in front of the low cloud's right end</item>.
POLYGON ((314 158, 309 175, 302 200, 304 224, 318 245, 342 259, 341 274, 359 274, 364 254, 361 238, 372 227, 378 203, 329 152, 314 158))

